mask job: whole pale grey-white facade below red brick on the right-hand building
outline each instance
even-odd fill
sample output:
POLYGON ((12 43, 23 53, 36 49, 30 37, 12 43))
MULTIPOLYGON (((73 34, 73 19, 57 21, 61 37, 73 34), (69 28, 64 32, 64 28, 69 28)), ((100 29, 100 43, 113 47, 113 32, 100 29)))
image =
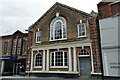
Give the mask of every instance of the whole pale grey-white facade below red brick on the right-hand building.
POLYGON ((99 20, 104 76, 120 76, 120 16, 99 20))

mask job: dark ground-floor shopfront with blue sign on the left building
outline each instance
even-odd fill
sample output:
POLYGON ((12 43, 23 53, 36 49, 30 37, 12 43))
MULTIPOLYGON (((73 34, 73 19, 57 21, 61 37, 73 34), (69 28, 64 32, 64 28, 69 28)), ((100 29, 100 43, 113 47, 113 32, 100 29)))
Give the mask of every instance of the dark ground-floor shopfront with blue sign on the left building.
POLYGON ((2 75, 20 75, 25 74, 25 60, 24 57, 5 56, 0 57, 2 75))

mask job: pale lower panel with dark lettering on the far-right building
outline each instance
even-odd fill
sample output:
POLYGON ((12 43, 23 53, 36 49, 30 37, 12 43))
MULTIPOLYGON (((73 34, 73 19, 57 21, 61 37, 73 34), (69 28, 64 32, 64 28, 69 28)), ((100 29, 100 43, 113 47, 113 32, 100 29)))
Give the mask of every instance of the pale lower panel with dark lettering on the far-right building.
POLYGON ((104 76, 120 77, 120 59, 118 52, 103 53, 104 76))

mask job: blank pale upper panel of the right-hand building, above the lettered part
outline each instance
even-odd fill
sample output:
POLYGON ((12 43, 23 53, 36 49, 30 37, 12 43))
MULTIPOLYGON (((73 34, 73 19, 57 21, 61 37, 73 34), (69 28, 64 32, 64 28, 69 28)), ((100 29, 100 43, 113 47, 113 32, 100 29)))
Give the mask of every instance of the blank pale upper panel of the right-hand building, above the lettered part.
MULTIPOLYGON (((101 33, 101 47, 118 45, 119 17, 110 17, 99 20, 101 33)), ((120 26, 119 26, 120 27, 120 26)))

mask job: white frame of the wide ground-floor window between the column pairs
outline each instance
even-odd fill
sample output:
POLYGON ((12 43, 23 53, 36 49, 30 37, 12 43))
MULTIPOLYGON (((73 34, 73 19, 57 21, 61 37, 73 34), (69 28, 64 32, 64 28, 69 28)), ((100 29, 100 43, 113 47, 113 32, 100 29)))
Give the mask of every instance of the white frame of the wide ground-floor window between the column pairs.
POLYGON ((61 51, 55 51, 55 52, 51 52, 51 54, 50 54, 50 68, 68 68, 68 53, 66 52, 66 51, 62 51, 63 52, 63 66, 56 66, 55 65, 55 55, 56 55, 56 52, 61 52, 61 51), (65 55, 65 52, 67 53, 66 55, 67 55, 67 66, 65 66, 65 57, 64 57, 64 55, 65 55), (52 66, 52 54, 54 54, 54 66, 52 66))

